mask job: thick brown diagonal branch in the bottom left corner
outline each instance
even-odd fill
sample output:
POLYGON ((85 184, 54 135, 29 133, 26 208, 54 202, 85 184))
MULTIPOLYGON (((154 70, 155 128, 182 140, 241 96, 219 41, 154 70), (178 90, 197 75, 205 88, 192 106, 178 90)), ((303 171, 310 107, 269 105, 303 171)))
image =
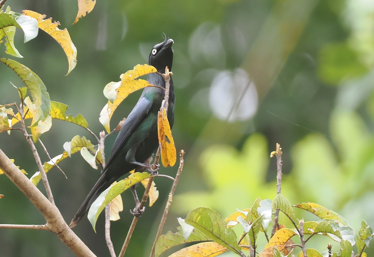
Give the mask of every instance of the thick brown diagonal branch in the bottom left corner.
MULTIPOLYGON (((42 192, 14 165, 0 149, 0 169, 24 193, 45 217, 48 230, 55 233, 59 239, 73 251, 76 256, 94 257, 95 254, 82 242, 64 221, 58 208, 52 204, 42 192)), ((25 226, 25 225, 23 225, 25 226)))

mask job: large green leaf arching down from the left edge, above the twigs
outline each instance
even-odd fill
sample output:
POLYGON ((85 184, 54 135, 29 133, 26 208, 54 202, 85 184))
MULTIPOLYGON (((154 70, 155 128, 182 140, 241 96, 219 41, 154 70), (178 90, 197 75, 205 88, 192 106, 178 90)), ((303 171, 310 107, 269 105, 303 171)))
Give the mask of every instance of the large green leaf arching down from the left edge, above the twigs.
POLYGON ((50 99, 42 80, 33 71, 19 62, 5 58, 1 58, 0 61, 11 68, 22 79, 33 97, 36 105, 36 114, 34 123, 31 126, 36 126, 40 120, 46 120, 50 111, 50 99))

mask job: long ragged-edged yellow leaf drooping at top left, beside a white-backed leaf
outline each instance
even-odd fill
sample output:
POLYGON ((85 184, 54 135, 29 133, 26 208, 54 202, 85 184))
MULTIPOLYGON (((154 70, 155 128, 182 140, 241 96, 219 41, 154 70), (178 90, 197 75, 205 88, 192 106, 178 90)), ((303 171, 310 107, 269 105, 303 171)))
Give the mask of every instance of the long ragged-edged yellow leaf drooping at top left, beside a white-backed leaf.
POLYGON ((68 75, 70 71, 72 71, 77 65, 77 48, 71 41, 68 30, 66 28, 64 28, 64 30, 60 30, 59 28, 57 28, 60 23, 52 23, 52 18, 44 19, 46 18, 45 14, 41 15, 40 13, 30 10, 24 10, 22 14, 36 19, 38 21, 38 27, 49 34, 51 37, 53 37, 53 39, 55 39, 59 43, 62 49, 64 49, 69 62, 69 70, 66 74, 68 75))

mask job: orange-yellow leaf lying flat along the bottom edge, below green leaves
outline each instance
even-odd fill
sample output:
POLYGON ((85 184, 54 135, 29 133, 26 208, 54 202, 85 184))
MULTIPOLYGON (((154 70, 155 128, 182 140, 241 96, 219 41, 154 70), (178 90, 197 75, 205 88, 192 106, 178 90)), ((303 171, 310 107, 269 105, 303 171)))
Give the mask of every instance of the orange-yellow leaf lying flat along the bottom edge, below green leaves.
POLYGON ((203 242, 183 248, 169 257, 214 257, 228 249, 216 242, 203 242))

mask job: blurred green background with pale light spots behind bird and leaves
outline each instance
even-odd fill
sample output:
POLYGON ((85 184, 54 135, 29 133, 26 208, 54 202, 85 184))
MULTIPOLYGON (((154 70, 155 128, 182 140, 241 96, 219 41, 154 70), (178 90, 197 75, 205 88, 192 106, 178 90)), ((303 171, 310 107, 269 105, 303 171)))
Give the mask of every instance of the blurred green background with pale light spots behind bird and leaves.
MULTIPOLYGON (((103 130, 98 117, 107 101, 104 86, 147 63, 162 33, 174 39, 173 137, 186 155, 165 233, 176 232, 176 218, 185 218, 197 206, 226 217, 236 208, 250 207, 257 196, 273 199, 276 162, 269 155, 277 142, 283 148, 282 193, 292 204, 316 202, 343 215, 355 230, 362 219, 374 226, 374 2, 98 0, 75 25, 70 25, 77 13, 73 0, 8 0, 7 5, 15 12, 44 13, 68 29, 78 52, 78 64, 68 76, 64 52, 43 31, 26 44, 17 31, 15 44, 24 58, 16 61, 39 75, 51 100, 70 106, 67 114, 81 113, 97 135, 103 130)), ((2 44, 0 57, 15 59, 4 51, 2 44)), ((9 81, 22 86, 12 70, 0 66, 1 104, 18 101, 9 81)), ((128 115, 139 95, 117 109, 112 127, 128 115)), ((56 156, 75 135, 93 142, 83 128, 61 121, 53 121, 41 139, 56 156)), ((106 140, 107 154, 115 137, 106 140)), ((0 134, 0 148, 28 177, 37 171, 20 132, 0 134)), ((68 179, 57 169, 48 176, 56 205, 69 222, 99 171, 79 154, 59 166, 68 179)), ((177 166, 160 169, 172 176, 176 171, 177 166)), ((149 256, 172 184, 165 178, 155 182, 160 198, 142 215, 126 256, 149 256)), ((38 187, 44 192, 42 183, 38 187)), ((45 223, 5 175, 0 176, 0 193, 0 223, 45 223)), ((134 207, 130 192, 122 197, 121 220, 111 227, 117 253, 134 207)), ((74 231, 97 256, 109 256, 103 217, 96 229, 95 234, 85 218, 74 231)), ((316 238, 308 246, 323 251, 327 241, 316 238)), ((334 242, 333 250, 338 249, 334 242)), ((374 253, 370 250, 369 256, 374 253)), ((2 229, 0 256, 74 255, 50 232, 2 229)))

